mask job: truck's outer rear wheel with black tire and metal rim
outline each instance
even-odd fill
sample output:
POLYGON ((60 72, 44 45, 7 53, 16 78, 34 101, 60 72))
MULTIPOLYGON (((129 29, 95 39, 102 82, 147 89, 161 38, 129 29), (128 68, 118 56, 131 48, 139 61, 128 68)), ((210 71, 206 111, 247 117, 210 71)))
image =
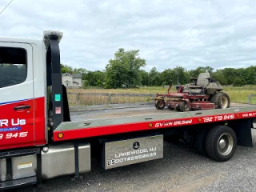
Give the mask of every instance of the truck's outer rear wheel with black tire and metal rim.
POLYGON ((237 137, 229 126, 214 126, 206 136, 206 152, 218 162, 226 162, 233 157, 237 137))

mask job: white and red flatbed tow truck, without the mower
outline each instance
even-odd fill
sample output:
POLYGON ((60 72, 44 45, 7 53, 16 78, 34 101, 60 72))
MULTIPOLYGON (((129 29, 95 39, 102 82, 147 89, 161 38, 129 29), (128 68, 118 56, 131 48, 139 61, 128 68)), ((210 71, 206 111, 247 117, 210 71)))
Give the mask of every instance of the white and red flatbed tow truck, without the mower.
POLYGON ((236 146, 253 146, 256 106, 175 112, 136 108, 70 115, 59 42, 0 38, 0 190, 163 158, 163 139, 182 139, 225 162, 236 146))

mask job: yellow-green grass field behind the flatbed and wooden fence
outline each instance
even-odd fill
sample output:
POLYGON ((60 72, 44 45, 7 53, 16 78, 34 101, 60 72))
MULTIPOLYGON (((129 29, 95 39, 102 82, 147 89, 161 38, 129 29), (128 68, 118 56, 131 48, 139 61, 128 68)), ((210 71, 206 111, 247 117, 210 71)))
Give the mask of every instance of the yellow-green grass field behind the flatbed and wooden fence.
MULTIPOLYGON (((166 94, 167 88, 160 86, 143 87, 138 89, 117 89, 117 90, 105 90, 105 89, 70 89, 67 90, 71 93, 87 93, 87 94, 166 94)), ((256 94, 256 86, 225 86, 224 92, 229 94, 231 102, 247 103, 249 94, 256 94)), ((170 92, 176 92, 172 87, 170 92)), ((79 96, 72 94, 69 95, 70 106, 86 106, 86 105, 99 105, 110 103, 132 103, 132 102, 150 102, 153 101, 152 97, 130 97, 130 96, 98 96, 98 95, 86 95, 80 94, 79 96)), ((256 97, 251 98, 251 104, 256 104, 256 97)))

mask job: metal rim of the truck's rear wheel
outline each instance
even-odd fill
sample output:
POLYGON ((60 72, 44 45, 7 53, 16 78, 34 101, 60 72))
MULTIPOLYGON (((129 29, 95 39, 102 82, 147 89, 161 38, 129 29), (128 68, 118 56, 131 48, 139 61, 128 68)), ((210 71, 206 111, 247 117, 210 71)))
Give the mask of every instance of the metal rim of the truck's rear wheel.
POLYGON ((222 134, 218 138, 218 153, 223 156, 230 154, 234 147, 234 141, 230 134, 222 134))

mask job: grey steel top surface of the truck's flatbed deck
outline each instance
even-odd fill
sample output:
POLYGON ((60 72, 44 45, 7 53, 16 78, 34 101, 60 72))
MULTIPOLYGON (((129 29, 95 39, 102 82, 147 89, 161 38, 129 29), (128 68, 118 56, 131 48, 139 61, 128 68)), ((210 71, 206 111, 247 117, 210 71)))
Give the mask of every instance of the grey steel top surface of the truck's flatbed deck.
POLYGON ((169 110, 157 110, 154 106, 126 108, 115 110, 95 110, 84 112, 72 112, 72 122, 62 122, 57 130, 78 130, 98 126, 113 126, 136 122, 150 122, 161 120, 172 120, 182 118, 194 118, 207 115, 230 114, 237 112, 249 112, 256 110, 256 106, 247 104, 232 103, 233 105, 225 110, 193 110, 180 112, 169 110))

